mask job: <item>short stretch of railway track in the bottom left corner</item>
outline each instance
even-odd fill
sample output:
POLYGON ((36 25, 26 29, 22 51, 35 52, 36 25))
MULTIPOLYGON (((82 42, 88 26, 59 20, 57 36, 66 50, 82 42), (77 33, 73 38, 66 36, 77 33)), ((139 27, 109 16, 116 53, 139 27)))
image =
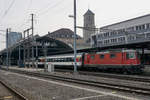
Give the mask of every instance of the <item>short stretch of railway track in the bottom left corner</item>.
MULTIPOLYGON (((9 91, 8 94, 11 94, 9 96, 0 97, 0 100, 29 100, 25 96, 23 96, 21 93, 19 93, 16 89, 12 88, 10 85, 8 85, 6 82, 4 82, 2 79, 0 79, 0 85, 5 87, 5 90, 9 91)), ((1 90, 3 91, 3 90, 1 90)))

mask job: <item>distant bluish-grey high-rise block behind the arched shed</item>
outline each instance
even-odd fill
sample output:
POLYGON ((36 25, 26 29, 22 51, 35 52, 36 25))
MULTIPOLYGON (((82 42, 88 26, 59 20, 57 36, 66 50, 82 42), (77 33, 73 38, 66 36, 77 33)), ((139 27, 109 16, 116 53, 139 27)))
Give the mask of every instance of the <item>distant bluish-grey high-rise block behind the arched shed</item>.
MULTIPOLYGON (((20 32, 9 32, 8 33, 8 47, 13 46, 22 38, 22 33, 20 32)), ((7 42, 6 42, 7 44, 7 42)))

